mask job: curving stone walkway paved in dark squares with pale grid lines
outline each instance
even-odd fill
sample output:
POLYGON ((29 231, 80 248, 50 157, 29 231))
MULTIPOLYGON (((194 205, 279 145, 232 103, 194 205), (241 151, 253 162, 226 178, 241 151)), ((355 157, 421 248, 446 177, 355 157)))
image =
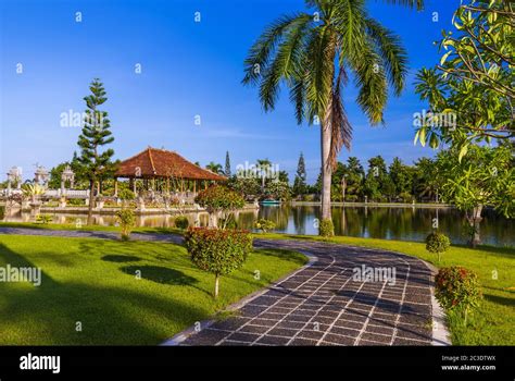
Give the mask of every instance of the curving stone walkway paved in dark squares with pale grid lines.
MULTIPOLYGON (((430 345, 431 271, 420 260, 378 249, 255 241, 317 259, 180 345, 430 345), (395 283, 356 281, 353 269, 394 268, 395 283)), ((164 345, 166 345, 165 343, 164 345)))

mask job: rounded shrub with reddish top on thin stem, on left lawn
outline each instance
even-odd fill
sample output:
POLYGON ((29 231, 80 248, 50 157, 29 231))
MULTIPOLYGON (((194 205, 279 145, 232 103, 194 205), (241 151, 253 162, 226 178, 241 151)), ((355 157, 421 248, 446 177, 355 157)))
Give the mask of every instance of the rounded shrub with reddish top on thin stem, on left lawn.
POLYGON ((199 269, 214 273, 214 296, 217 297, 219 276, 243 265, 252 250, 252 236, 238 230, 190 228, 185 244, 191 261, 199 269))

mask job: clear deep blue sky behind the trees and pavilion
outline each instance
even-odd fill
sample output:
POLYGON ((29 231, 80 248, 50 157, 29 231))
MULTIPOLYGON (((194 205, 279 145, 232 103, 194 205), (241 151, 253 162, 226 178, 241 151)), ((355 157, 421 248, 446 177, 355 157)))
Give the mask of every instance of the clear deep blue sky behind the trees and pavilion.
MULTIPOLYGON (((62 127, 61 115, 83 112, 88 84, 100 77, 109 100, 116 158, 148 145, 176 150, 202 165, 233 170, 268 158, 291 174, 304 152, 309 181, 319 170, 319 131, 298 126, 288 94, 264 113, 255 88, 243 87, 242 61, 263 28, 284 13, 304 10, 301 0, 0 0, 0 181, 22 167, 32 179, 36 162, 51 168, 70 160, 79 127, 62 127), (81 12, 77 23, 76 12, 81 12), (200 12, 201 21, 194 21, 200 12), (17 73, 17 64, 23 73, 17 73), (141 73, 135 73, 141 64, 141 73), (201 125, 194 124, 200 115, 201 125)), ((426 0, 416 12, 369 1, 370 14, 402 38, 410 56, 409 86, 391 98, 386 127, 370 127, 344 90, 354 126, 351 152, 365 161, 382 155, 412 162, 431 156, 413 146, 413 113, 426 106, 413 90, 417 69, 438 62, 432 41, 450 29, 459 0, 426 0), (438 22, 434 22, 438 12, 438 22)), ((292 180, 290 175, 290 180, 292 180)))

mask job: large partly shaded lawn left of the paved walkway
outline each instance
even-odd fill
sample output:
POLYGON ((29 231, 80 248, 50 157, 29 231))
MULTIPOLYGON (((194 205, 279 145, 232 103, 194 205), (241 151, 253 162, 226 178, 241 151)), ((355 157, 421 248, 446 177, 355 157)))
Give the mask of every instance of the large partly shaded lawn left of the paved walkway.
POLYGON ((254 250, 222 278, 215 300, 214 275, 194 268, 178 245, 0 235, 0 267, 42 271, 40 286, 0 283, 0 345, 160 344, 305 261, 292 251, 254 250))

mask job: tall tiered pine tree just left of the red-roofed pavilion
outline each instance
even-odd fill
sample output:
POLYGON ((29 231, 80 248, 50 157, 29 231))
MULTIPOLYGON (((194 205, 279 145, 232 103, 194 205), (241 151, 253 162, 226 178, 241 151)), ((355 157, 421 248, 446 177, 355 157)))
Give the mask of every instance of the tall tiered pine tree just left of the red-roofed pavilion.
POLYGON ((114 137, 111 133, 111 122, 108 119, 108 112, 98 110, 108 98, 100 79, 95 78, 89 86, 91 95, 84 98, 86 101, 86 115, 84 119, 83 133, 78 137, 77 145, 80 153, 77 161, 81 173, 89 181, 89 209, 88 225, 92 223, 92 208, 95 186, 102 179, 112 175, 115 170, 115 163, 111 161, 114 155, 112 148, 100 151, 102 146, 113 143, 114 137))

